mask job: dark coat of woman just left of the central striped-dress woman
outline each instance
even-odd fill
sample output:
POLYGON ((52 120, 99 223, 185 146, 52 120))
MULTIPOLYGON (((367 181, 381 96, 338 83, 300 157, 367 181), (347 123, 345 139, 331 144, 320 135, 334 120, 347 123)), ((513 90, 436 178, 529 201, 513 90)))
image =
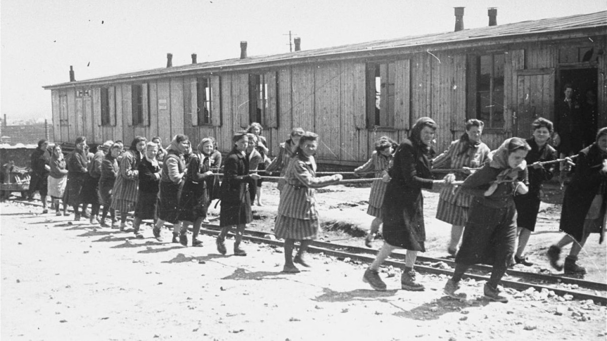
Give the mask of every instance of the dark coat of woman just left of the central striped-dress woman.
POLYGON ((238 150, 232 149, 223 167, 220 226, 246 224, 253 220, 249 190, 254 188, 254 181, 249 175, 248 158, 238 150))

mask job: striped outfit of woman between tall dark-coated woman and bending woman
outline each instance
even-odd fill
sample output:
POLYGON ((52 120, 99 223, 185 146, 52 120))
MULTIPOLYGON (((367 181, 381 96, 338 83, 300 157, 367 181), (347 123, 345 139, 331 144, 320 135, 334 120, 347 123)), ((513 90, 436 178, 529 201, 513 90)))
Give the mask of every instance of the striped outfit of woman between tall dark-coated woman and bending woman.
MULTIPOLYGON (((480 167, 487 160, 489 147, 481 142, 470 145, 467 152, 462 154, 467 145, 467 141, 453 141, 446 152, 433 160, 433 169, 480 167)), ((455 172, 455 180, 465 180, 467 176, 464 172, 455 172)), ((451 225, 464 226, 471 202, 471 195, 458 191, 455 186, 444 186, 439 196, 436 218, 451 225)))

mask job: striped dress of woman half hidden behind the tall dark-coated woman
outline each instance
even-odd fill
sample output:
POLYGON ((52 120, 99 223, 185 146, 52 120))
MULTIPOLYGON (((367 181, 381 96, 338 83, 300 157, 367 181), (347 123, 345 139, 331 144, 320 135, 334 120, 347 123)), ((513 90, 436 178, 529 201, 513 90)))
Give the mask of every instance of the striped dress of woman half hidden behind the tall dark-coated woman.
MULTIPOLYGON (((354 169, 354 173, 364 173, 375 171, 375 178, 384 176, 384 170, 387 172, 392 163, 393 155, 385 156, 377 151, 373 152, 367 163, 354 169)), ((388 183, 382 179, 373 180, 371 183, 371 193, 369 194, 369 208, 367 214, 373 217, 381 218, 381 205, 384 203, 385 189, 388 183)))

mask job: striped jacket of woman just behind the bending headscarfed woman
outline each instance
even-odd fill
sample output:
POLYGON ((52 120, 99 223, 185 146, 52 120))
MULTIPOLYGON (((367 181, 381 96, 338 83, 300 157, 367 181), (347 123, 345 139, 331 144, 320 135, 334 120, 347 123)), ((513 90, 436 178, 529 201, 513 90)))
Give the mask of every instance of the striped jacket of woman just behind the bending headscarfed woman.
MULTIPOLYGON (((478 168, 487 161, 487 155, 491 151, 484 143, 479 143, 476 146, 470 147, 465 154, 461 152, 466 147, 467 142, 456 140, 451 143, 449 149, 443 154, 438 155, 433 160, 432 168, 478 168)), ((455 180, 464 180, 468 175, 464 172, 455 172, 455 180)), ((454 191, 453 186, 444 186, 441 189, 440 200, 445 200, 457 206, 470 207, 472 196, 465 194, 463 191, 454 191)))

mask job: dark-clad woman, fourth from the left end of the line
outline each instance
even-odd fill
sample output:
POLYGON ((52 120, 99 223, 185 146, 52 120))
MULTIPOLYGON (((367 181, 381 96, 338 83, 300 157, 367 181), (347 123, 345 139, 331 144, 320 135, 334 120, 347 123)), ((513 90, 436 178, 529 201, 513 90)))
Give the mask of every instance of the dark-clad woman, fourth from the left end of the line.
POLYGON ((97 146, 95 153, 89 162, 87 174, 84 176, 84 184, 82 186, 81 201, 83 208, 90 204, 90 224, 98 224, 99 220, 99 178, 101 177, 101 161, 106 156, 107 151, 114 144, 114 141, 106 141, 104 144, 97 146))

